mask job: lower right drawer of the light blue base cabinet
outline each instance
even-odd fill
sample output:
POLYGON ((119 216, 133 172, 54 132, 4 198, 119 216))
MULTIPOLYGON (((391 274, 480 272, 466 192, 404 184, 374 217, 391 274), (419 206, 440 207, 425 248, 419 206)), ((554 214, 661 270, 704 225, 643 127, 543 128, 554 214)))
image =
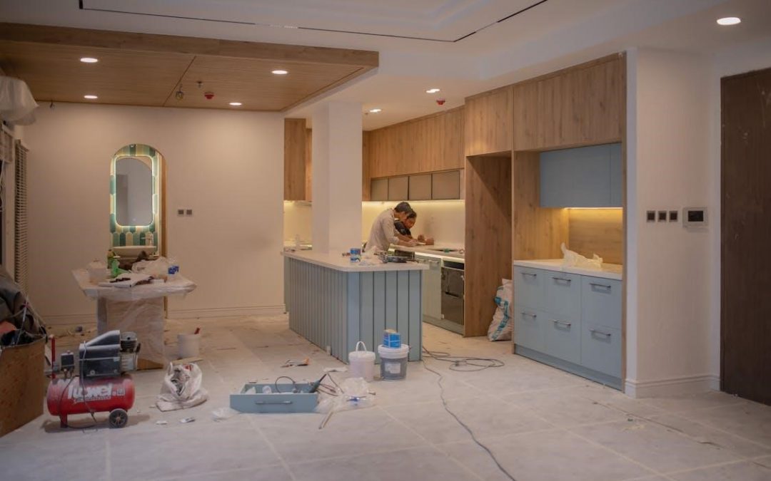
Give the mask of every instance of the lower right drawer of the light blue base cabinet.
POLYGON ((621 329, 584 322, 581 329, 581 366, 621 377, 621 329))

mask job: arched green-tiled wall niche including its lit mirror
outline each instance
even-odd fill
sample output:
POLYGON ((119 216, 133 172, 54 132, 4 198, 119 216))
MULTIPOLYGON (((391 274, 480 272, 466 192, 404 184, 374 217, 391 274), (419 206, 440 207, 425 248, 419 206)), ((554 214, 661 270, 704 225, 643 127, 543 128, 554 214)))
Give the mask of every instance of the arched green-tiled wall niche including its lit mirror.
POLYGON ((109 174, 113 249, 163 254, 163 155, 150 145, 126 145, 113 155, 109 174))

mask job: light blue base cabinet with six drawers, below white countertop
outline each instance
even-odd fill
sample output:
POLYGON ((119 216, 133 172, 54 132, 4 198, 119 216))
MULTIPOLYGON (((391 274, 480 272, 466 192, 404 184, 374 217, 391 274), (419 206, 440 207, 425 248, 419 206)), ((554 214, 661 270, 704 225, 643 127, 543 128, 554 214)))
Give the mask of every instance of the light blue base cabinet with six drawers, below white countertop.
POLYGON ((621 281, 514 266, 514 349, 621 389, 621 281))

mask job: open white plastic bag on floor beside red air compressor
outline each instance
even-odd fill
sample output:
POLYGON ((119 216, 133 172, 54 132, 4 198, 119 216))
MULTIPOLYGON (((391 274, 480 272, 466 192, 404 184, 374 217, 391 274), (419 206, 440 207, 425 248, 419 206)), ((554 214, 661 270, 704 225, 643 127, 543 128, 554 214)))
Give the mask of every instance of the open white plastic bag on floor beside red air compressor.
POLYGON ((187 409, 209 399, 209 393, 201 387, 204 374, 197 364, 169 364, 156 406, 161 411, 187 409))

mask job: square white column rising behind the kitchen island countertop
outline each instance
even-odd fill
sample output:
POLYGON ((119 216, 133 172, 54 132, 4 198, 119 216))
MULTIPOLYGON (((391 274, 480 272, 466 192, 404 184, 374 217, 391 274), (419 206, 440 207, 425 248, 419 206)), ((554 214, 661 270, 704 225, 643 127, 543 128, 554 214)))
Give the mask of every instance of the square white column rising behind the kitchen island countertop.
POLYGON ((313 250, 362 246, 362 105, 328 102, 313 113, 313 250))

